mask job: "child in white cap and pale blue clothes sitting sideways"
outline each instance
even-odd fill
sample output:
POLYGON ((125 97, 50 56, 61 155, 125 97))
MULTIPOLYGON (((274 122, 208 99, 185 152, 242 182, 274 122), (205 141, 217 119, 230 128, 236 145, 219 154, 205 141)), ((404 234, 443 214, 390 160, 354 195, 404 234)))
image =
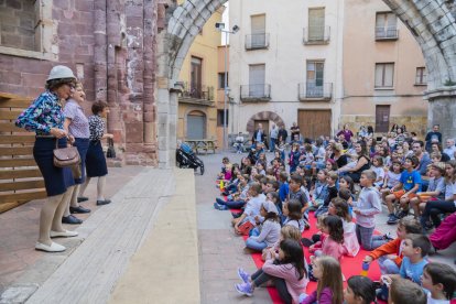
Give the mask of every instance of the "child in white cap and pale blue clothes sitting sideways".
POLYGON ((246 248, 254 251, 262 251, 267 247, 273 246, 280 237, 279 213, 274 203, 265 200, 261 205, 260 215, 263 221, 250 231, 250 237, 246 240, 246 248))

